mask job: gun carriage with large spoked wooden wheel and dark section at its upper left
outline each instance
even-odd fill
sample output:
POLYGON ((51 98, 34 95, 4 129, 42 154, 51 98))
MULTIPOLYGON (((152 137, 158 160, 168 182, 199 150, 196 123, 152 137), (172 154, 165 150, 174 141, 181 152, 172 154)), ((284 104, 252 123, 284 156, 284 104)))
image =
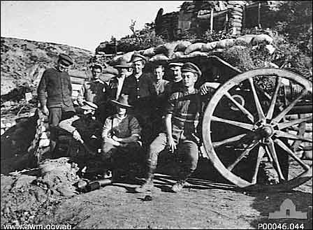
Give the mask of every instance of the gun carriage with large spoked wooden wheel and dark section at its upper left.
POLYGON ((245 189, 271 191, 289 190, 312 178, 312 157, 299 156, 299 151, 312 156, 310 80, 275 68, 242 73, 216 56, 188 62, 201 67, 205 82, 221 83, 203 114, 201 150, 224 178, 245 189), (272 185, 259 182, 263 161, 277 175, 272 185), (302 168, 301 173, 289 172, 291 166, 302 168))

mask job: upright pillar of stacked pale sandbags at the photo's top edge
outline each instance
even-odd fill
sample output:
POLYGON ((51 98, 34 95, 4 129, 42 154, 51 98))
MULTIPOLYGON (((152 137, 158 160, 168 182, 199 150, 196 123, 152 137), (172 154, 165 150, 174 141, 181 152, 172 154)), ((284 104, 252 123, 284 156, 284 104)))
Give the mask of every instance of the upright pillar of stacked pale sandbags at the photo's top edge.
POLYGON ((228 19, 228 28, 233 35, 240 35, 242 29, 242 15, 244 1, 228 1, 228 10, 230 18, 228 19))

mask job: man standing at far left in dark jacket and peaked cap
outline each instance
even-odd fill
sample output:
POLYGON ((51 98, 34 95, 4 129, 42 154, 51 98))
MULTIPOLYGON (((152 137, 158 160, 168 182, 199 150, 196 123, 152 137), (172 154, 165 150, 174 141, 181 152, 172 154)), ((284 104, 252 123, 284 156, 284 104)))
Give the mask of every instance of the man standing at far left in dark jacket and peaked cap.
MULTIPOLYGON (((41 110, 49 116, 50 127, 57 127, 61 119, 73 115, 75 112, 72 102, 71 78, 68 76, 68 67, 73 59, 66 54, 60 54, 57 66, 47 69, 38 85, 38 101, 41 110)), ((56 134, 51 131, 51 150, 55 146, 56 134)))

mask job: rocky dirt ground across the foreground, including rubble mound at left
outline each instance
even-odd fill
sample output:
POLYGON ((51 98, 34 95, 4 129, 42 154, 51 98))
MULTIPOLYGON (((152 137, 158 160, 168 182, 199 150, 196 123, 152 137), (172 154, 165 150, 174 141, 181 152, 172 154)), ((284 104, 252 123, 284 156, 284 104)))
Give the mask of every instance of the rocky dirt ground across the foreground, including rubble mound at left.
MULTIPOLYGON (((6 224, 71 224, 73 229, 258 229, 259 224, 280 223, 312 229, 312 179, 291 192, 245 192, 224 180, 208 159, 201 159, 194 178, 174 194, 169 188, 175 182, 177 162, 170 159, 159 168, 152 193, 136 193, 142 182, 138 179, 77 192, 72 185, 79 181, 78 159, 58 158, 14 173, 18 167, 25 168, 27 154, 3 154, 2 146, 11 148, 3 145, 11 140, 7 134, 1 136, 1 228, 6 224), (17 161, 21 156, 24 161, 17 161), (145 201, 146 195, 152 201, 145 201), (296 210, 307 213, 307 220, 268 219, 287 198, 296 210)), ((291 176, 301 170, 294 163, 291 176)))

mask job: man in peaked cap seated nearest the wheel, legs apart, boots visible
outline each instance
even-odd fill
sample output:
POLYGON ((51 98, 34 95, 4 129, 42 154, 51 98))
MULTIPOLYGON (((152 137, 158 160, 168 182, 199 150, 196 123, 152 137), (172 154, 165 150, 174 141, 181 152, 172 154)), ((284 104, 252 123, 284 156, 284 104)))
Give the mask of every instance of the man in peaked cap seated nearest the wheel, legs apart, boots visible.
POLYGON ((168 148, 169 152, 176 149, 184 156, 183 167, 178 181, 173 185, 173 192, 180 192, 187 178, 196 170, 198 164, 199 134, 197 132, 203 103, 200 90, 194 85, 201 76, 201 70, 193 63, 182 66, 182 84, 180 92, 174 92, 168 99, 166 109, 166 131, 163 131, 151 143, 147 157, 147 174, 145 184, 136 188, 136 192, 153 189, 154 171, 160 152, 168 148))

